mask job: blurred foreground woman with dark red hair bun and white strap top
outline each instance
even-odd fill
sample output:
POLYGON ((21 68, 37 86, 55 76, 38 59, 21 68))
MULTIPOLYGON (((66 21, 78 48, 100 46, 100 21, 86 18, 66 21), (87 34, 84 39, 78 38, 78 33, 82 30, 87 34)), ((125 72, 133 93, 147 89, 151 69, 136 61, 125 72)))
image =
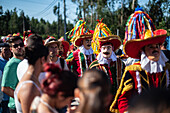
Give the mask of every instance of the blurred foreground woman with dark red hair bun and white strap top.
POLYGON ((77 87, 77 76, 70 71, 61 71, 56 64, 45 65, 46 78, 41 84, 43 94, 36 97, 31 105, 33 113, 58 113, 71 103, 74 89, 77 87))

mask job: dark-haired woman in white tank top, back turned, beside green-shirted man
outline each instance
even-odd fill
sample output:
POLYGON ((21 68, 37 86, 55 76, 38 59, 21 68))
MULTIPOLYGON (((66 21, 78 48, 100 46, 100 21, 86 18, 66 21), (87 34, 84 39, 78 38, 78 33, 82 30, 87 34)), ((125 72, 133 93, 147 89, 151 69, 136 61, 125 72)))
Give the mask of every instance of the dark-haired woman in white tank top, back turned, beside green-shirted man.
POLYGON ((29 113, 32 100, 41 94, 38 77, 43 71, 47 56, 48 49, 42 44, 25 48, 25 57, 29 66, 14 92, 17 113, 29 113))

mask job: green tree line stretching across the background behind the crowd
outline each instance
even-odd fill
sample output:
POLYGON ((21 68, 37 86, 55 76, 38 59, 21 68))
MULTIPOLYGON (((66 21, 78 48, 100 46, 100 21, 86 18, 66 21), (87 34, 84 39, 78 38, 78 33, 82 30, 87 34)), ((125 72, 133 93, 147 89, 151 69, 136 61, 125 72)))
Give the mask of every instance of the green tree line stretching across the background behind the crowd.
MULTIPOLYGON (((72 2, 77 4, 75 23, 78 19, 83 18, 92 30, 95 29, 96 20, 104 18, 102 22, 110 28, 112 33, 118 33, 124 39, 126 21, 134 9, 140 6, 153 19, 157 29, 165 29, 170 35, 170 0, 147 0, 147 3, 142 6, 138 0, 72 0, 72 2)), ((52 13, 58 16, 56 7, 54 6, 52 13)), ((57 21, 50 23, 42 18, 40 20, 30 18, 24 15, 23 11, 20 14, 17 12, 16 8, 11 11, 3 11, 3 7, 0 6, 0 36, 17 32, 22 34, 24 30, 31 30, 44 38, 48 35, 56 38, 64 35, 64 20, 61 14, 57 21), (23 24, 25 29, 23 29, 23 24), (60 36, 57 36, 58 34, 60 36)), ((68 21, 67 31, 72 28, 73 24, 68 21)))

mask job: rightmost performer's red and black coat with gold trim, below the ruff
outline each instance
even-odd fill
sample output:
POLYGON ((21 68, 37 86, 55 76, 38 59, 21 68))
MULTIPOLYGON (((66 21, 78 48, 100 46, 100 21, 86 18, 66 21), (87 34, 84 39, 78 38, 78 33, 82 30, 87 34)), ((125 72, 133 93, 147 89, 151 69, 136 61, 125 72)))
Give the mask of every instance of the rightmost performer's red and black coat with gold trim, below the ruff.
POLYGON ((149 90, 151 88, 168 88, 169 66, 170 64, 166 64, 164 71, 153 74, 147 73, 143 70, 140 62, 127 66, 115 99, 110 106, 110 111, 113 113, 124 113, 128 108, 128 100, 133 95, 137 95, 143 90, 149 90))

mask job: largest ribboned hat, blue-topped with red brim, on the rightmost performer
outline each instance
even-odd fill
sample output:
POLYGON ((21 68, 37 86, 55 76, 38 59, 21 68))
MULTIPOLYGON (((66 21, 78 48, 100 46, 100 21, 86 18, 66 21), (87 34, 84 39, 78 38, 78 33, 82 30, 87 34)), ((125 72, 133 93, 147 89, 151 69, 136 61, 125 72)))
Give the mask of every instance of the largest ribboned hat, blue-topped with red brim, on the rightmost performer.
POLYGON ((126 24, 124 52, 132 58, 140 59, 140 50, 148 44, 162 44, 167 31, 155 30, 152 19, 141 8, 136 8, 126 24))

